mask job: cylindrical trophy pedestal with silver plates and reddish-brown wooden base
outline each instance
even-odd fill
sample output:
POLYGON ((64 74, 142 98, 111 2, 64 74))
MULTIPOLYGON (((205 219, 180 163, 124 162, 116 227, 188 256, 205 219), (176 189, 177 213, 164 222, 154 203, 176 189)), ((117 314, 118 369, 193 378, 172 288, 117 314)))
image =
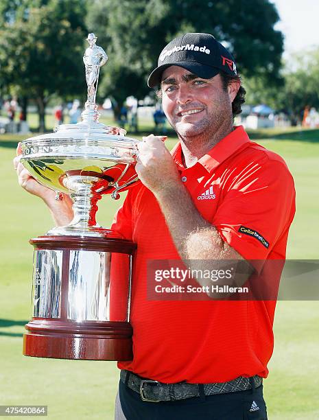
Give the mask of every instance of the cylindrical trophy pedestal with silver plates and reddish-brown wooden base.
POLYGON ((136 245, 117 237, 43 236, 34 246, 32 320, 23 354, 132 360, 130 282, 136 245))

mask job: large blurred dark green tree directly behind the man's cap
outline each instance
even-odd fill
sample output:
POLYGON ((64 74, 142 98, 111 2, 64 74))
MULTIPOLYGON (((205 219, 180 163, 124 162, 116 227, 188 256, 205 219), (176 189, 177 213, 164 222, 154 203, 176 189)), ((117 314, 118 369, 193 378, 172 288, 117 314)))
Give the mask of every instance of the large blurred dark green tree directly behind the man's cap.
POLYGON ((159 52, 184 32, 213 34, 233 52, 241 74, 276 85, 283 52, 277 21, 268 0, 255 0, 253 7, 251 0, 94 0, 86 22, 110 58, 98 93, 118 108, 128 95, 142 99, 159 52))

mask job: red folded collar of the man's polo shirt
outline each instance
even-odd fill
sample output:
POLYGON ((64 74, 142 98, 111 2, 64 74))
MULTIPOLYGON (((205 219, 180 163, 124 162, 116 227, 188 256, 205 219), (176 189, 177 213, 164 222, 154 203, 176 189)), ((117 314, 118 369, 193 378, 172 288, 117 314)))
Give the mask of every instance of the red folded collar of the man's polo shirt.
MULTIPOLYGON (((250 139, 244 130, 243 126, 234 127, 234 130, 230 132, 224 139, 217 143, 208 153, 204 154, 197 163, 200 163, 208 172, 213 170, 231 156, 236 150, 241 148, 245 143, 249 143, 250 139)), ((180 170, 185 170, 185 166, 182 164, 182 148, 180 141, 172 150, 172 157, 177 163, 180 170)))

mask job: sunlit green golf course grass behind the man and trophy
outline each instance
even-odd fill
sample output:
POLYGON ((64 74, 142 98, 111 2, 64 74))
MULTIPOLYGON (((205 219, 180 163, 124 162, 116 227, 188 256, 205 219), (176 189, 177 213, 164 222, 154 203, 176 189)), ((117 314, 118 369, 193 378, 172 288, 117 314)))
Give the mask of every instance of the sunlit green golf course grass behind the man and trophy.
MULTIPOLYGON (((252 138, 279 152, 294 175, 297 213, 287 257, 318 259, 318 130, 258 131, 252 133, 252 138)), ((43 234, 52 222, 43 203, 16 183, 12 158, 17 140, 12 135, 0 136, 0 405, 45 404, 49 406, 50 419, 113 419, 118 382, 115 362, 46 360, 21 355, 32 278, 32 246, 28 240, 43 234)), ((174 141, 171 139, 167 145, 172 146, 174 141)), ((108 226, 122 200, 123 196, 117 202, 104 197, 99 206, 99 222, 108 226)), ((277 303, 274 354, 264 384, 269 419, 319 419, 318 326, 318 302, 277 303)))

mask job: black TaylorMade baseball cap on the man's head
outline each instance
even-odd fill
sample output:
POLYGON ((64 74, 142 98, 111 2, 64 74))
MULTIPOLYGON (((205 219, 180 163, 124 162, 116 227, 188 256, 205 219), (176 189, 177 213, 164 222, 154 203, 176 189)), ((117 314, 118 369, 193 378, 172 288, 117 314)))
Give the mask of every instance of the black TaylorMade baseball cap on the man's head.
POLYGON ((202 79, 211 79, 220 71, 237 75, 233 56, 211 34, 188 33, 167 44, 147 80, 148 86, 160 84, 162 73, 169 66, 183 67, 202 79))

